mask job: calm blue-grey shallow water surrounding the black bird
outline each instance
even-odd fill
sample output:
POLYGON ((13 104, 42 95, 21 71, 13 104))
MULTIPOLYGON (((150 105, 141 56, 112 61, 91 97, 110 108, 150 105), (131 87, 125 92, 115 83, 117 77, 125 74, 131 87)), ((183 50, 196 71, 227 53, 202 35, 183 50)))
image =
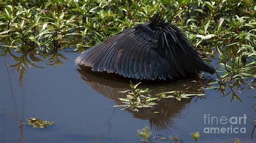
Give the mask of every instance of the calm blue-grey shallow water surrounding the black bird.
MULTIPOLYGON (((152 136, 173 135, 184 142, 193 142, 190 133, 196 131, 200 132, 199 142, 234 142, 234 138, 242 142, 256 141, 251 139, 255 101, 250 97, 255 96, 255 90, 235 91, 242 103, 237 99, 231 102, 232 95, 221 97, 220 91, 206 90, 205 99, 193 97, 180 102, 165 99, 140 112, 123 111, 113 105, 120 104, 118 98, 125 94, 118 91, 128 89, 129 80, 90 73, 75 65, 79 53, 60 53, 69 59, 63 60, 62 66, 26 68, 28 72, 24 72, 23 78, 17 68, 9 66, 15 63, 10 55, 0 56, 0 142, 139 142, 137 130, 145 125, 151 128, 152 136), (204 124, 205 114, 217 118, 246 115, 246 124, 242 120, 240 125, 232 125, 245 127, 246 133, 204 133, 204 128, 209 126, 231 127, 230 123, 204 124), (55 121, 55 124, 32 128, 24 125, 29 117, 55 121)), ((203 83, 214 78, 215 75, 206 74, 203 83)), ((139 88, 150 88, 151 94, 180 90, 192 80, 142 83, 139 88)))

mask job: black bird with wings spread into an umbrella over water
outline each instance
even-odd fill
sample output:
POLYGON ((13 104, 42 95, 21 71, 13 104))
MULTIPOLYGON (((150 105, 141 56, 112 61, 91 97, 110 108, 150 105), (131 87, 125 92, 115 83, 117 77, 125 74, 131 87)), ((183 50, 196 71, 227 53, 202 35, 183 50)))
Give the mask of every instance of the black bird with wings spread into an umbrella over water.
POLYGON ((87 49, 76 63, 92 71, 106 71, 140 80, 167 80, 215 69, 201 59, 178 27, 159 13, 87 49))

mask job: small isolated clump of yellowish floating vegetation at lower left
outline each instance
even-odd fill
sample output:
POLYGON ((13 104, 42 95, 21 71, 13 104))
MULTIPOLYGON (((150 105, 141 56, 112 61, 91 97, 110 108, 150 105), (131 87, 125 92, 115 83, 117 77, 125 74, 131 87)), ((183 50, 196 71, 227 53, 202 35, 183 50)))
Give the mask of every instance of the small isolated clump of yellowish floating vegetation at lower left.
POLYGON ((36 119, 36 118, 28 118, 28 125, 33 126, 33 128, 45 128, 49 125, 54 124, 53 121, 46 121, 46 120, 41 120, 41 119, 36 119))

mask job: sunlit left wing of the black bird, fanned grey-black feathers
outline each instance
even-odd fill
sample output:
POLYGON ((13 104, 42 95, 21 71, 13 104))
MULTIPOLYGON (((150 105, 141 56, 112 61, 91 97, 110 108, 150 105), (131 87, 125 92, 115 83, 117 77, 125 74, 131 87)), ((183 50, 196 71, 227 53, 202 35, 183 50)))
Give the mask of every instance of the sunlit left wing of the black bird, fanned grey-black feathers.
POLYGON ((158 38, 149 27, 127 28, 82 53, 76 63, 137 79, 172 78, 167 61, 155 51, 158 38))

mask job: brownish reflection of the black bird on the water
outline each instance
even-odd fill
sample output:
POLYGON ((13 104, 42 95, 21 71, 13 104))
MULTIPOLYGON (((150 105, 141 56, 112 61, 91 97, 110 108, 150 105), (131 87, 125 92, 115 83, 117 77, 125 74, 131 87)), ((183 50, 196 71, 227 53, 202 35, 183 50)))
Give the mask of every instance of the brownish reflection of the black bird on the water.
MULTIPOLYGON (((92 89, 97 91, 99 94, 104 95, 113 101, 117 105, 122 104, 118 98, 126 98, 125 93, 120 93, 119 91, 129 90, 129 80, 125 77, 118 76, 116 74, 108 74, 104 72, 93 72, 90 68, 79 66, 77 69, 79 77, 91 86, 92 89)), ((198 86, 192 85, 191 82, 197 80, 198 77, 188 78, 183 81, 175 82, 157 82, 157 81, 145 81, 139 85, 139 88, 149 88, 151 91, 148 94, 156 95, 160 92, 172 91, 172 90, 183 90, 188 86, 189 92, 197 92, 198 86)), ((139 81, 133 80, 133 83, 138 83, 139 81)), ((203 85, 212 82, 212 79, 202 79, 200 81, 203 85)), ((152 108, 142 108, 139 111, 127 110, 132 113, 134 118, 139 118, 143 120, 149 120, 151 130, 170 130, 171 128, 176 128, 173 121, 175 118, 183 118, 181 114, 190 104, 192 98, 182 99, 177 101, 177 99, 169 98, 162 99, 157 102, 158 105, 152 108)))

